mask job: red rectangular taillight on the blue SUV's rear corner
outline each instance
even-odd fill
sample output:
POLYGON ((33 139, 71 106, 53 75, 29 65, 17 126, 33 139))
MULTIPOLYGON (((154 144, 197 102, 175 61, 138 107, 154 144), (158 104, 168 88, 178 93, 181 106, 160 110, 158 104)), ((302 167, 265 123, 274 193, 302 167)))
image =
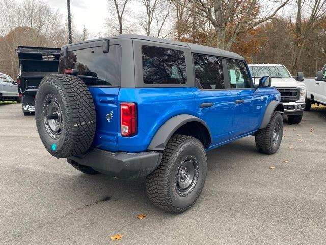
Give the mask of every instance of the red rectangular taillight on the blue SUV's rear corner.
POLYGON ((121 135, 131 137, 137 134, 137 108, 133 102, 120 104, 121 135))

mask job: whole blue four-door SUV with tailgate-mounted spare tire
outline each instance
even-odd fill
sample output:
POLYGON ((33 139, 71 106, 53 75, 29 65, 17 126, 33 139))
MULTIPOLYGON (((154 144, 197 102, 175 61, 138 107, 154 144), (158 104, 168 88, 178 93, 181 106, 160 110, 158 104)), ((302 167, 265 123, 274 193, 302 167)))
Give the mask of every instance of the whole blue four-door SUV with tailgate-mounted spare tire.
POLYGON ((59 74, 36 96, 36 124, 50 154, 86 174, 146 176, 150 201, 190 208, 206 179, 206 152, 244 136, 275 153, 280 93, 254 85, 244 58, 216 48, 122 34, 65 45, 59 74))

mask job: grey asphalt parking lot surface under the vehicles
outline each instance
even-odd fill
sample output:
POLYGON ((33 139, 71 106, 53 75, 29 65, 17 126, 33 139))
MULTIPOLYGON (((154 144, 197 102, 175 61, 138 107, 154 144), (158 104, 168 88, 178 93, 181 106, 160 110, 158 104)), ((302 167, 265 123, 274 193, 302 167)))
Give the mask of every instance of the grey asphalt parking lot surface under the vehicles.
POLYGON ((52 157, 34 116, 0 105, 0 243, 325 244, 326 108, 284 129, 274 155, 252 136, 210 151, 199 199, 172 215, 149 203, 144 179, 88 176, 52 157))

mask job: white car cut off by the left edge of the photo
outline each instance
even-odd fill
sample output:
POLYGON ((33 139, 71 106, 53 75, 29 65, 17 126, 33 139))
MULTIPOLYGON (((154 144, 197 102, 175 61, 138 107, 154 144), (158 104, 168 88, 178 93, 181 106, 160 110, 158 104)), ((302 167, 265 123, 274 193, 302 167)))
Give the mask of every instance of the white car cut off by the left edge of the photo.
POLYGON ((3 73, 0 73, 0 101, 19 101, 17 83, 3 73))

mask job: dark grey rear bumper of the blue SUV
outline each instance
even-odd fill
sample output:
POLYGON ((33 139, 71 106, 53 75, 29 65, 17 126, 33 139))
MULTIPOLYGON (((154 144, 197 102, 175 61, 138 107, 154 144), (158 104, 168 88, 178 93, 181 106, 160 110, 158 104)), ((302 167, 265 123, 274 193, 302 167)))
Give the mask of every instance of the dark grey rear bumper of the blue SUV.
POLYGON ((159 165, 161 158, 162 154, 156 151, 127 153, 92 148, 83 155, 68 159, 92 167, 103 174, 128 179, 144 177, 152 173, 159 165))

